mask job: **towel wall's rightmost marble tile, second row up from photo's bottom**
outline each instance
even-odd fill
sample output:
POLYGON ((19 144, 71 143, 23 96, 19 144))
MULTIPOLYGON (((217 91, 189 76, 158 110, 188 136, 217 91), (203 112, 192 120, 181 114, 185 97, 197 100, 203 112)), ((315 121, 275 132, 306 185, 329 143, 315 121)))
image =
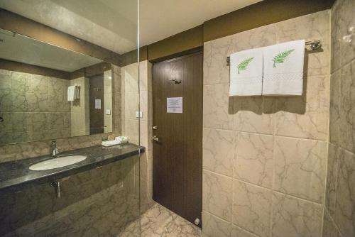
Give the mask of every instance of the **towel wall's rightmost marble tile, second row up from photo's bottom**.
POLYGON ((323 202, 327 143, 275 136, 273 189, 323 202))

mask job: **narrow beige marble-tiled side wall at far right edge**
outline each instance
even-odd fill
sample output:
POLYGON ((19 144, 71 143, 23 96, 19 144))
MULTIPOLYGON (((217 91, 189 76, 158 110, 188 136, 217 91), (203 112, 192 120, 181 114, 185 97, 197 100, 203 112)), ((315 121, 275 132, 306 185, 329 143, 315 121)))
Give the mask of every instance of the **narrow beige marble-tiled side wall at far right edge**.
POLYGON ((323 236, 355 236, 355 1, 332 7, 332 75, 323 236))

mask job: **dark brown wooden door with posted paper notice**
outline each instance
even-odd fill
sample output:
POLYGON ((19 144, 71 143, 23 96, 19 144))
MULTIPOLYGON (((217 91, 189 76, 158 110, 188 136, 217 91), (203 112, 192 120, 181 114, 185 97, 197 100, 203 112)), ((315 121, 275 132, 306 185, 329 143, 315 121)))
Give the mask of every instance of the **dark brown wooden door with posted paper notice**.
POLYGON ((192 223, 202 211, 202 64, 200 52, 153 65, 153 199, 192 223), (182 114, 167 113, 171 97, 182 97, 182 114))

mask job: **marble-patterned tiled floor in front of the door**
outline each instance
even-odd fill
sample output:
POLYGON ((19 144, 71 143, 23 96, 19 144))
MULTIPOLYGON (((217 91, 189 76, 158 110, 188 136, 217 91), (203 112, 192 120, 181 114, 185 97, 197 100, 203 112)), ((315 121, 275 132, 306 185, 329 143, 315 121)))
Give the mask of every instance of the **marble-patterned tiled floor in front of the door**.
MULTIPOLYGON (((135 236, 138 222, 127 226, 121 236, 135 236)), ((154 204, 141 216, 141 237, 200 237, 201 229, 182 217, 154 204)))

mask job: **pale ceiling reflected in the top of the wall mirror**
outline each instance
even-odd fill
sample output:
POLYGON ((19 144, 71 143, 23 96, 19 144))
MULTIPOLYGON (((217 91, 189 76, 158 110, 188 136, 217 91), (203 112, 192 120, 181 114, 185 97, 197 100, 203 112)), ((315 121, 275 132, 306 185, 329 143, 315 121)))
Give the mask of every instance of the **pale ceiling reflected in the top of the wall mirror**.
POLYGON ((102 60, 43 43, 33 38, 0 30, 0 57, 40 67, 74 72, 102 60))

